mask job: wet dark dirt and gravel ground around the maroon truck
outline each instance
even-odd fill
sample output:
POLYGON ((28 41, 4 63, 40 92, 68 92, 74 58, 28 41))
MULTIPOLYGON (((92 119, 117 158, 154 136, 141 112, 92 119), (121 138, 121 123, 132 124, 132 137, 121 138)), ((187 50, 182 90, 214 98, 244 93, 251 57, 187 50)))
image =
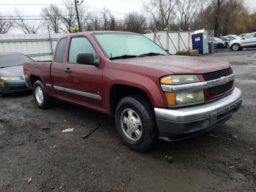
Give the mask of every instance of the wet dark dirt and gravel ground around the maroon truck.
POLYGON ((31 93, 0 98, 0 191, 256 191, 256 50, 205 56, 233 64, 242 108, 206 134, 148 152, 124 146, 112 116, 62 101, 40 110, 31 93))

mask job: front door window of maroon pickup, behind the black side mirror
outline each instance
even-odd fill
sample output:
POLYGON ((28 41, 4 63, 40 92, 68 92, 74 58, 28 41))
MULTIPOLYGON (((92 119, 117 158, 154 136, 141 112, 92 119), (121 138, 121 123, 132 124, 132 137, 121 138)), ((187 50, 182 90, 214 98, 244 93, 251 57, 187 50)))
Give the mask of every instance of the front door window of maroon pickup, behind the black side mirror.
POLYGON ((95 50, 85 37, 73 37, 70 42, 68 61, 76 62, 76 55, 78 52, 92 52, 95 58, 95 50))

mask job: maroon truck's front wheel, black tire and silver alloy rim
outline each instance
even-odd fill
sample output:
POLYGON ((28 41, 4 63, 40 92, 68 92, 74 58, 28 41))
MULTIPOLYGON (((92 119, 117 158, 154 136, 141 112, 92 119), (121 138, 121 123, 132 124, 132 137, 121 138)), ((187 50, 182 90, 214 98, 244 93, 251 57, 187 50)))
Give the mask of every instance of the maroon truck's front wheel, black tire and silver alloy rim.
POLYGON ((149 150, 158 141, 153 107, 141 96, 121 99, 116 108, 115 122, 122 142, 136 151, 149 150))

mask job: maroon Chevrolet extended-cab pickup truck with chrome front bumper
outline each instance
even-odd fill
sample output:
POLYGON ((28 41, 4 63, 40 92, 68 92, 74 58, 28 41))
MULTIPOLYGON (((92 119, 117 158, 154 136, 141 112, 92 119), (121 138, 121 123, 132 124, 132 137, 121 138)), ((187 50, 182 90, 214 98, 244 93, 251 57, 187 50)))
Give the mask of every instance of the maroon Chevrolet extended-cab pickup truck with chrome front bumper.
POLYGON ((110 114, 138 151, 211 130, 242 104, 228 62, 170 55, 129 32, 67 34, 52 61, 25 62, 24 75, 39 108, 58 98, 110 114))

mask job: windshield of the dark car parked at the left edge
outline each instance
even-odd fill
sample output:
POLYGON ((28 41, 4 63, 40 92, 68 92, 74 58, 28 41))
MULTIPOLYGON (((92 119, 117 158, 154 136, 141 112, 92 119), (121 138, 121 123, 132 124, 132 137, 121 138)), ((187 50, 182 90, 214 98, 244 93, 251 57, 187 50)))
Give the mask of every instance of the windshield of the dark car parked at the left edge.
POLYGON ((0 55, 0 68, 23 65, 24 62, 33 61, 23 54, 0 55))

